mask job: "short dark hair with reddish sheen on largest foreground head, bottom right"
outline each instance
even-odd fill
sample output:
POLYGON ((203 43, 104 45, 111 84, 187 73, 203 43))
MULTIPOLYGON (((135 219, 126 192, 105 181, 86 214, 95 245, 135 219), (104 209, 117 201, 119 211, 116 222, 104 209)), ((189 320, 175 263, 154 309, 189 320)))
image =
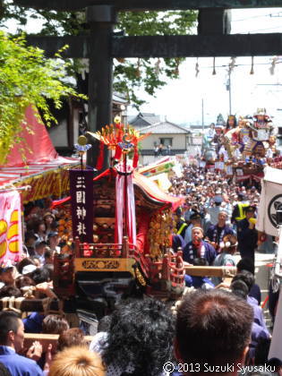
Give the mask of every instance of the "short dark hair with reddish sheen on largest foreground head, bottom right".
POLYGON ((252 321, 252 307, 234 294, 198 289, 185 295, 177 308, 178 360, 209 365, 240 360, 249 345, 252 321))

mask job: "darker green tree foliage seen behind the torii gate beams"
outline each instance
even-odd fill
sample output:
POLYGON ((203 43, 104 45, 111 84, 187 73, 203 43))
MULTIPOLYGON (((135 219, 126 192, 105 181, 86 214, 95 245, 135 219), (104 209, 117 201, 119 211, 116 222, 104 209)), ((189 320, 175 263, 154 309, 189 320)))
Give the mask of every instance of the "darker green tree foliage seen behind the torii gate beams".
MULTIPOLYGON (((84 12, 56 12, 27 10, 14 6, 11 0, 3 0, 2 25, 7 20, 18 22, 19 31, 28 18, 42 22, 41 35, 78 35, 88 32, 84 12)), ((115 30, 123 30, 126 36, 184 35, 191 33, 197 12, 121 12, 115 30)), ((1 27, 1 24, 0 24, 1 27)), ((134 91, 143 87, 150 95, 166 84, 166 79, 178 77, 179 64, 184 59, 119 59, 114 62, 114 88, 124 93, 137 107, 143 103, 134 91)), ((74 66, 78 66, 77 62, 74 66)))

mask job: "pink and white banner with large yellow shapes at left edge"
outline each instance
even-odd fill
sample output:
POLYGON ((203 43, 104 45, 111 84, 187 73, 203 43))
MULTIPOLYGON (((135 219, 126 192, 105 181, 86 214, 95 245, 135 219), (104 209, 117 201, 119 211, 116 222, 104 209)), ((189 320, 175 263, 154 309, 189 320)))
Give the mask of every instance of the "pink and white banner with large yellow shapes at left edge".
POLYGON ((19 261, 22 249, 20 193, 0 193, 0 263, 19 261))

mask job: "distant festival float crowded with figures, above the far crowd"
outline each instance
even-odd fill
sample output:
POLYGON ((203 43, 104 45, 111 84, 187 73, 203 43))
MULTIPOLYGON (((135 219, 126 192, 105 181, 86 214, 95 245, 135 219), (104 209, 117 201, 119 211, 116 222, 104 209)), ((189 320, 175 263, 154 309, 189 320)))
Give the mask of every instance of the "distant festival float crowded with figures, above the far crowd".
POLYGON ((203 159, 206 167, 226 174, 240 183, 260 183, 267 165, 279 168, 276 157, 276 128, 265 108, 258 108, 253 116, 229 115, 226 125, 218 115, 215 130, 203 137, 203 159))

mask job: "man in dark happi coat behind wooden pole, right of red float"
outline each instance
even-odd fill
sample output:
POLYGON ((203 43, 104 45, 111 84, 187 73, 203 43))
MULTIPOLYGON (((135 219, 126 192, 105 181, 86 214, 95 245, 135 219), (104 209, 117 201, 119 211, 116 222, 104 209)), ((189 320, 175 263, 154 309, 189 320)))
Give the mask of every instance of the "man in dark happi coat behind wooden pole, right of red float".
POLYGON ((203 229, 200 226, 192 227, 192 242, 189 242, 184 247, 184 261, 194 264, 195 259, 204 258, 212 265, 216 258, 216 251, 214 247, 204 242, 203 229))

